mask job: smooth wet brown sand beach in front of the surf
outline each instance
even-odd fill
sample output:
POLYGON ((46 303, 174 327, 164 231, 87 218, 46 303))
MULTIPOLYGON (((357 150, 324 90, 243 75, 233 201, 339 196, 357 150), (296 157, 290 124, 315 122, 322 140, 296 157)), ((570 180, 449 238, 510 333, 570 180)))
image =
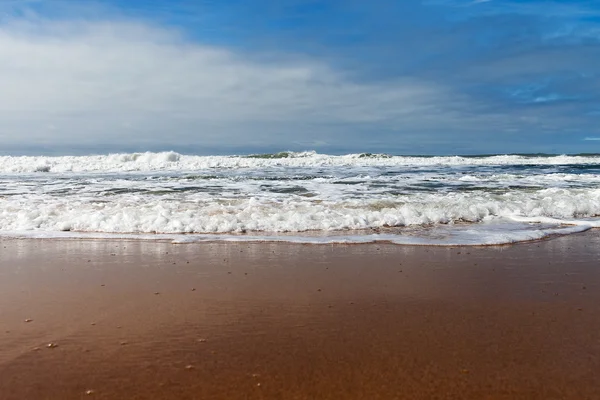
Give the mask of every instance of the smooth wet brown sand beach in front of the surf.
POLYGON ((600 399, 600 231, 0 251, 2 400, 600 399))

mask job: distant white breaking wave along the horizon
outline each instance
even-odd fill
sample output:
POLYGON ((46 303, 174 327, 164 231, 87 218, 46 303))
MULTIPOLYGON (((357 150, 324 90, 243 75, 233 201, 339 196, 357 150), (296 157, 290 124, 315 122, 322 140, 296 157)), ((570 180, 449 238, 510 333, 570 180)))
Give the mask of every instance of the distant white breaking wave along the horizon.
POLYGON ((496 165, 600 166, 600 155, 492 155, 492 156, 390 156, 307 152, 280 152, 248 156, 194 156, 175 152, 91 156, 1 156, 0 173, 113 173, 198 171, 206 169, 260 169, 270 167, 426 167, 496 165))

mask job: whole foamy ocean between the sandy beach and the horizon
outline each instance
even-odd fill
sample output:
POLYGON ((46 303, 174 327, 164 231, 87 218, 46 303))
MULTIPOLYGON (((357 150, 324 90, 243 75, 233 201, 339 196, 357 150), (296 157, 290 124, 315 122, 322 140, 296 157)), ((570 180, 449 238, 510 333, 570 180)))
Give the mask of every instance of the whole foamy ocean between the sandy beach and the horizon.
POLYGON ((600 227, 600 155, 0 157, 0 236, 495 245, 600 227))

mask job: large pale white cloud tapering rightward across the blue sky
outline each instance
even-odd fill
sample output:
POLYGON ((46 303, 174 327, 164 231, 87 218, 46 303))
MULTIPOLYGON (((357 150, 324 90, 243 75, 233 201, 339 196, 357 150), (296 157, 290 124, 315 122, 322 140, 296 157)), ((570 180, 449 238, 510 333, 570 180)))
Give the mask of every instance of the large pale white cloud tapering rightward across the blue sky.
POLYGON ((318 60, 250 60, 135 22, 0 26, 0 144, 265 144, 309 126, 436 129, 461 119, 440 106, 451 100, 461 101, 426 82, 352 82, 318 60))

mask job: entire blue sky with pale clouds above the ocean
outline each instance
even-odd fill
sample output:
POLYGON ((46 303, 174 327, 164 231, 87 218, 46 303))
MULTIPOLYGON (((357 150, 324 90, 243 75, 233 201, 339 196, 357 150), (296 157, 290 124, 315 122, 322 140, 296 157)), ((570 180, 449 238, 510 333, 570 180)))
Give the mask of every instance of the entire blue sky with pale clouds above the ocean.
POLYGON ((0 0, 0 154, 600 153, 600 0, 0 0))

